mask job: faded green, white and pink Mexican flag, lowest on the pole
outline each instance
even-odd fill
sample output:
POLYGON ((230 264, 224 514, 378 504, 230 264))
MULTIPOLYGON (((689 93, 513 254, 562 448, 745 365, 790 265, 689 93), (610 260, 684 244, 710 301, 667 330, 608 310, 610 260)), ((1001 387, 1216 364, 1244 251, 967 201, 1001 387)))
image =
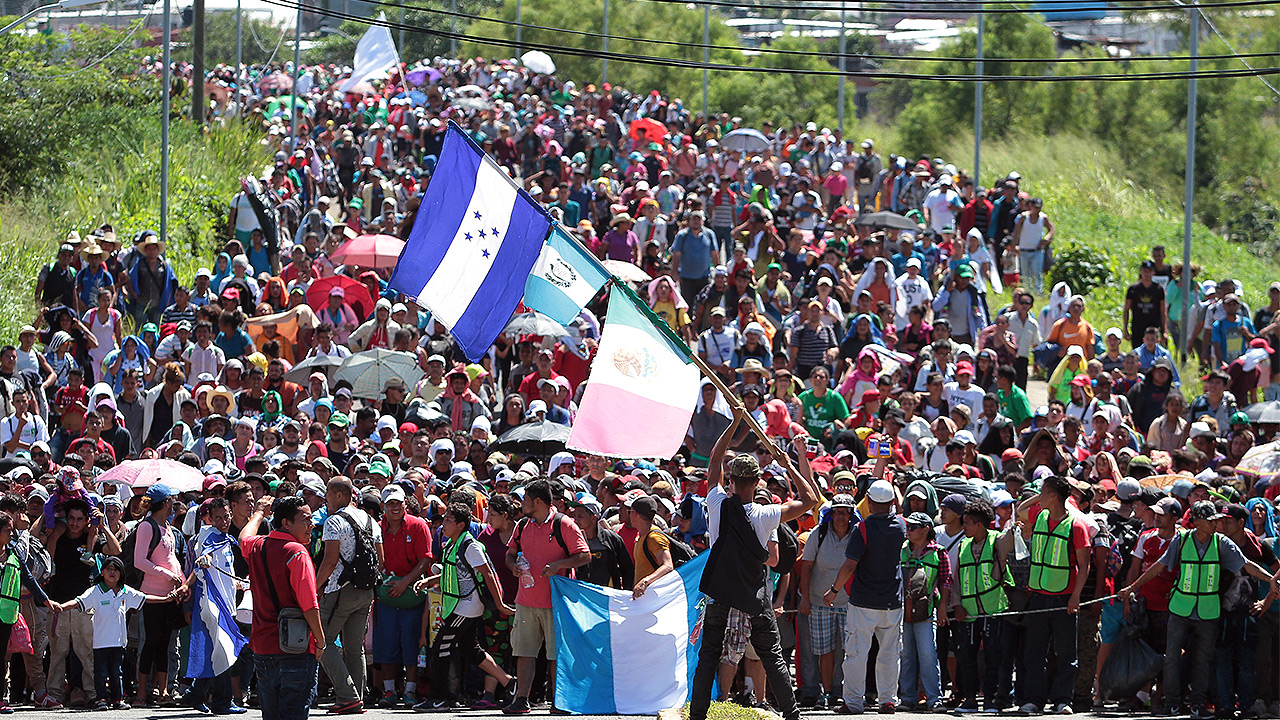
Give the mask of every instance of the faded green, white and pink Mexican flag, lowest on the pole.
POLYGON ((631 292, 609 288, 609 311, 568 447, 611 457, 671 457, 698 406, 689 347, 631 292), (637 432, 643 429, 643 432, 637 432))

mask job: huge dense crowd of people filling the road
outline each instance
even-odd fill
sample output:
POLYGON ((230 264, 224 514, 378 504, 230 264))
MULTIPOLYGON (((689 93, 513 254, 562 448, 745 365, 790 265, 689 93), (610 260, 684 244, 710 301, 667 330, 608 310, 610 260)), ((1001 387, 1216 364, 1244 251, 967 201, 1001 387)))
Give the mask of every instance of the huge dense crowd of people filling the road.
POLYGON ((1251 464, 1277 425, 1243 411, 1280 396, 1280 283, 1251 313, 1153 247, 1100 332, 1044 279, 1034 177, 983 187, 813 122, 740 132, 481 59, 358 94, 308 68, 289 118, 270 70, 211 73, 232 91, 210 119, 261 128, 268 164, 207 266, 177 272, 155 232, 59 228, 40 315, 0 348, 0 712, 562 712, 549 578, 639 597, 709 552, 692 720, 717 679, 787 720, 1280 716, 1280 480, 1251 464), (503 450, 575 421, 599 305, 467 363, 389 266, 334 259, 408 237, 449 122, 639 268, 731 388, 703 383, 677 455, 503 450), (379 348, 408 377, 334 382, 379 348), (101 479, 145 459, 202 486, 101 479), (210 626, 211 593, 236 621, 210 626), (227 635, 227 667, 196 662, 227 635), (1139 642, 1164 665, 1116 691, 1108 655, 1139 642))

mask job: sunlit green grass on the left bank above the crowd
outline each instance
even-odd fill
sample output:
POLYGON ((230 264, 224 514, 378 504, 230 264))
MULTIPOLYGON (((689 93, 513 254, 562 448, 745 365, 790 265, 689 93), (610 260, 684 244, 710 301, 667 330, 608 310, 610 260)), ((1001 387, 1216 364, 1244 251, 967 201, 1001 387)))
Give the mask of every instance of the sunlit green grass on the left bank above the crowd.
MULTIPOLYGON (((40 268, 54 259, 67 232, 82 236, 111 223, 122 243, 160 228, 159 119, 118 128, 96 154, 78 158, 46 187, 0 199, 0 341, 38 313, 33 288, 40 268)), ((168 259, 189 283, 225 238, 227 210, 239 178, 270 161, 261 136, 241 126, 200 136, 174 119, 170 131, 168 259)))

